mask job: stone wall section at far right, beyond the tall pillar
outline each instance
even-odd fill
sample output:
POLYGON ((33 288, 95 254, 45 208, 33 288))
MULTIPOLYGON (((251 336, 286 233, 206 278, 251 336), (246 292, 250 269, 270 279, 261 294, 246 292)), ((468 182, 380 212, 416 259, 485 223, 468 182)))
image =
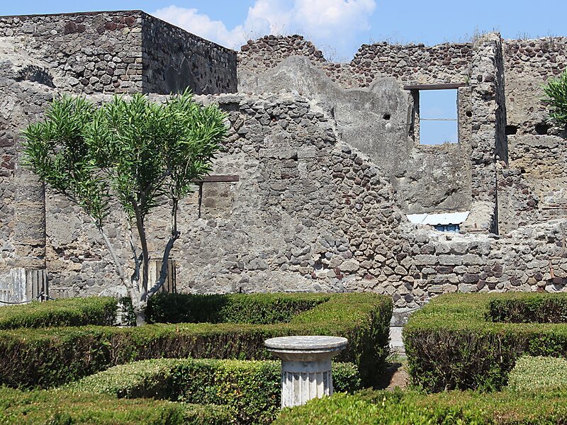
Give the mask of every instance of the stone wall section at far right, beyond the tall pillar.
POLYGON ((504 42, 508 154, 498 179, 504 230, 567 214, 566 132, 546 122, 541 101, 541 86, 567 68, 566 47, 563 37, 504 42))

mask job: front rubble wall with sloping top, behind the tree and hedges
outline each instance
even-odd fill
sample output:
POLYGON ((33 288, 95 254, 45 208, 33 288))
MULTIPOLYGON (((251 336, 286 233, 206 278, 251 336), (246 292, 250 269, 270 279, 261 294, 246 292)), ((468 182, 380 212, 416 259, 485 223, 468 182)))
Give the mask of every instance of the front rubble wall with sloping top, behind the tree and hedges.
MULTIPOLYGON (((567 283, 565 220, 500 238, 411 225, 381 169, 342 142, 330 117, 308 99, 201 101, 230 113, 227 151, 214 173, 238 174, 240 181, 205 183, 201 218, 196 196, 181 205, 183 234, 172 256, 183 292, 362 290, 391 295, 397 307, 416 307, 439 293, 554 291, 567 283)), ((46 210, 54 283, 80 286, 82 294, 120 288, 89 220, 51 193, 46 210)), ((150 246, 159 248, 168 212, 152 218, 150 246)), ((108 231, 127 253, 125 229, 108 231)))

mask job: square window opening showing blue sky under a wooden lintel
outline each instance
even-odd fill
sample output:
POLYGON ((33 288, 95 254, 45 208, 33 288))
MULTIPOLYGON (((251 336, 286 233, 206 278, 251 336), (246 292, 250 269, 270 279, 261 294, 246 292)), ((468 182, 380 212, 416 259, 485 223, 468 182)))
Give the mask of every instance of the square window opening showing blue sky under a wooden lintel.
POLYGON ((413 91, 412 134, 420 145, 459 142, 456 89, 413 91))

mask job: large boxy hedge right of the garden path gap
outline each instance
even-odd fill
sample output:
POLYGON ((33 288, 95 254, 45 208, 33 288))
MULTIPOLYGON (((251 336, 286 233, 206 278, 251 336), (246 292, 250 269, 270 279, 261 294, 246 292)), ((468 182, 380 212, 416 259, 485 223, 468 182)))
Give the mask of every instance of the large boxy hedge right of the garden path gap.
MULTIPOLYGON (((563 295, 537 297, 563 300, 563 295)), ((566 356, 563 324, 493 322, 491 314, 517 317, 504 313, 503 305, 533 299, 531 294, 507 293, 452 294, 432 300, 412 314, 403 330, 413 382, 429 391, 498 390, 507 384, 508 373, 522 354, 566 356)))

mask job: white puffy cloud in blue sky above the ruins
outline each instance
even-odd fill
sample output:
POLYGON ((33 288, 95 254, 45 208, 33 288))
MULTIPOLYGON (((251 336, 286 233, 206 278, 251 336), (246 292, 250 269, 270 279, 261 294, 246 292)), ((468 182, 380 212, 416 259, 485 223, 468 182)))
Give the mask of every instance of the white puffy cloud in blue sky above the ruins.
POLYGON ((266 34, 302 33, 322 50, 352 55, 358 47, 352 42, 357 33, 369 30, 375 8, 376 0, 256 0, 245 22, 231 29, 196 8, 172 5, 153 15, 233 49, 266 34))

